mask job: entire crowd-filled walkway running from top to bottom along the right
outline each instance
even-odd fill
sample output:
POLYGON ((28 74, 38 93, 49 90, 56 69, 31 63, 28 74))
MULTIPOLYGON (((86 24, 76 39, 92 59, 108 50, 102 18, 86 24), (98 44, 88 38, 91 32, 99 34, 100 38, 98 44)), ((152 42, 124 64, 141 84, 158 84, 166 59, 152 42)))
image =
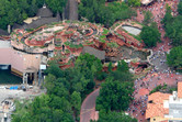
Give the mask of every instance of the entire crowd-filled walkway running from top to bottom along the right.
POLYGON ((134 87, 135 91, 133 93, 134 101, 130 103, 127 112, 136 118, 138 121, 144 122, 145 112, 147 109, 147 100, 149 96, 149 91, 151 91, 155 87, 159 85, 167 84, 169 86, 177 86, 178 81, 182 80, 182 77, 171 70, 167 65, 167 53, 171 48, 171 42, 168 37, 164 37, 164 29, 161 24, 161 20, 166 14, 166 5, 170 5, 172 10, 172 15, 178 15, 179 0, 170 0, 170 1, 153 1, 149 5, 140 7, 137 10, 136 21, 143 23, 144 21, 144 11, 150 11, 153 15, 152 21, 157 23, 159 32, 161 33, 161 43, 157 44, 157 47, 152 48, 152 56, 150 57, 150 63, 153 64, 152 69, 147 73, 147 75, 143 78, 138 78, 135 80, 134 87), (145 93, 140 95, 140 90, 146 89, 145 93))

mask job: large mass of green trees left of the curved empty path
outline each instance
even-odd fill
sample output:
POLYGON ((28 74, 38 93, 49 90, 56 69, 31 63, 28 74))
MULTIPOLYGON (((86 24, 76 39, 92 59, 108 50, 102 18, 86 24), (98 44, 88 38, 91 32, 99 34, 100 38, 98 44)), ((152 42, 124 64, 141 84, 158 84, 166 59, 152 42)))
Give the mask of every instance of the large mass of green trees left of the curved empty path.
POLYGON ((24 108, 16 109, 12 122, 73 122, 73 120, 79 120, 81 101, 93 90, 94 76, 101 69, 101 62, 89 54, 80 55, 75 67, 66 70, 61 70, 57 65, 50 65, 45 78, 47 95, 35 98, 33 103, 25 109, 25 114, 24 108))

